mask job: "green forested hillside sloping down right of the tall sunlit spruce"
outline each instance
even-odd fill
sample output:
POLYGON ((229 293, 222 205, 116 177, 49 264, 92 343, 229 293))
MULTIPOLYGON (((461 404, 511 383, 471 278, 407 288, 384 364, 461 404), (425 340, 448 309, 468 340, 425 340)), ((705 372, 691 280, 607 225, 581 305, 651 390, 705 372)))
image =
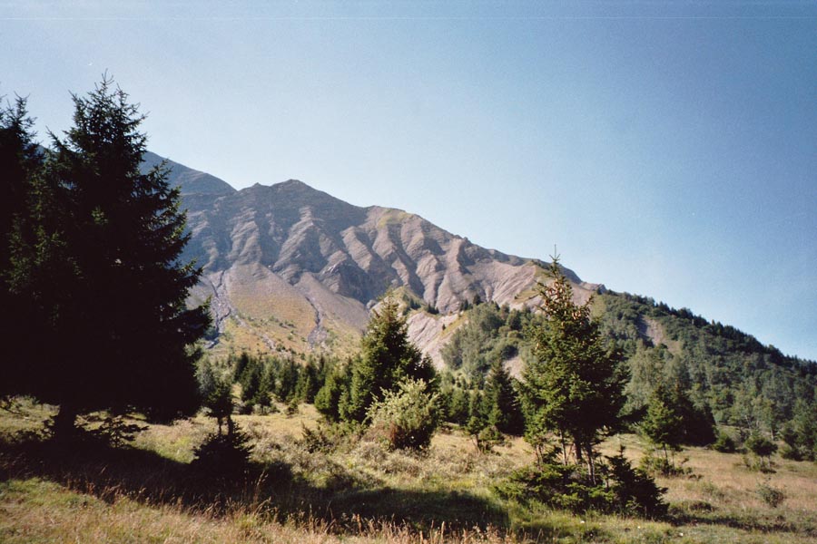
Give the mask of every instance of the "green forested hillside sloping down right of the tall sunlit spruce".
POLYGON ((718 423, 773 435, 814 404, 817 364, 783 355, 733 326, 614 293, 597 296, 596 315, 625 350, 635 402, 662 380, 677 381, 718 423))

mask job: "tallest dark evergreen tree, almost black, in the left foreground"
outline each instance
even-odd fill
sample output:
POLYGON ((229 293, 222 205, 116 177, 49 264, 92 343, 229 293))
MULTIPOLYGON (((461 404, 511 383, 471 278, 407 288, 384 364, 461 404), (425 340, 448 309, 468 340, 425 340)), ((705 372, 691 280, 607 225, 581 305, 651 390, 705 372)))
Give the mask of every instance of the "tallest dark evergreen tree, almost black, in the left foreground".
POLYGON ((59 404, 58 434, 85 411, 171 418, 200 403, 192 346, 210 317, 186 299, 201 271, 182 263, 189 234, 166 168, 140 169, 142 121, 108 78, 74 95, 74 127, 52 135, 27 213, 35 238, 13 252, 10 283, 31 301, 44 346, 15 393, 59 404))

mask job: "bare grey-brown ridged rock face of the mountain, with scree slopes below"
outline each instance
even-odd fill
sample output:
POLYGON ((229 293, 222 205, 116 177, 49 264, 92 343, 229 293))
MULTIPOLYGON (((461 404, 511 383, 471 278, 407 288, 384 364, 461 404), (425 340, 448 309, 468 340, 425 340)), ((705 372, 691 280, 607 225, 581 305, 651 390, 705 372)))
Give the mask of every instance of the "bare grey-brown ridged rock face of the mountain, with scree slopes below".
MULTIPOLYGON (((480 248, 417 215, 352 206, 298 180, 235 190, 170 166, 192 233, 184 257, 203 267, 193 298, 211 300, 217 349, 349 353, 369 308, 395 288, 438 310, 409 319, 409 335, 436 359, 451 332, 443 325, 465 302, 536 305, 541 263, 480 248)), ((567 272, 580 298, 598 287, 567 272)))

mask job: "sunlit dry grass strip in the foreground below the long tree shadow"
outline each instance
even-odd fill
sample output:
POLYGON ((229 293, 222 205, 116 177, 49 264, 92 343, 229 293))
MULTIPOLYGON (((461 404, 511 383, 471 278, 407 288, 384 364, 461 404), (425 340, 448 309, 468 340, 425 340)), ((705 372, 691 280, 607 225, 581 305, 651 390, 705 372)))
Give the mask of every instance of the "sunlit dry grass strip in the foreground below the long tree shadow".
POLYGON ((226 515, 152 505, 123 496, 100 500, 39 479, 0 483, 0 539, 3 542, 507 542, 496 530, 447 531, 420 535, 407 526, 355 519, 353 535, 338 535, 323 520, 234 510, 226 515), (422 540, 421 540, 422 539, 422 540))

